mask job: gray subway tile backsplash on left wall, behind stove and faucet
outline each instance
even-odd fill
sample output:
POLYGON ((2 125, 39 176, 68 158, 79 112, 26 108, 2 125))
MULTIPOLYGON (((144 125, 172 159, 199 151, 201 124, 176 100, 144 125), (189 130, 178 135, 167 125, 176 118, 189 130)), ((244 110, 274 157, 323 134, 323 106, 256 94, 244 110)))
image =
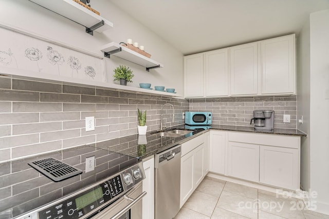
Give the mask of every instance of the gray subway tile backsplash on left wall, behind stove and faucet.
POLYGON ((147 110, 148 131, 158 130, 166 103, 175 107, 175 123, 165 107, 166 125, 184 124, 182 112, 189 110, 185 99, 0 76, 0 163, 135 135, 137 108, 147 110), (95 131, 85 131, 86 116, 95 116, 95 131))

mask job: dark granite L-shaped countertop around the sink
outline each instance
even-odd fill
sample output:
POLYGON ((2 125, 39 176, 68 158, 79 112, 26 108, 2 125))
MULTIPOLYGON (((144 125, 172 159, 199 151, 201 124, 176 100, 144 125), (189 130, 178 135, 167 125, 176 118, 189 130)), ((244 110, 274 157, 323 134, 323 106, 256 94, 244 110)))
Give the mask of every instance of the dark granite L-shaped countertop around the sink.
MULTIPOLYGON (((307 136, 305 133, 296 129, 275 129, 271 132, 255 131, 253 127, 242 126, 222 126, 211 125, 212 130, 223 131, 241 131, 251 133, 263 133, 263 134, 279 134, 279 135, 291 135, 291 136, 307 136)), ((185 129, 185 125, 179 125, 171 127, 170 129, 185 129)), ((170 130, 168 129, 168 130, 170 130)), ((209 129, 208 129, 209 130, 209 129)), ((153 135, 156 131, 148 132, 146 135, 130 135, 125 137, 116 138, 115 140, 109 140, 105 142, 96 143, 96 147, 106 148, 107 150, 121 153, 124 155, 130 155, 139 158, 146 158, 154 154, 165 151, 175 145, 184 143, 193 136, 197 136, 207 130, 196 130, 191 134, 182 135, 179 137, 161 137, 153 135)))

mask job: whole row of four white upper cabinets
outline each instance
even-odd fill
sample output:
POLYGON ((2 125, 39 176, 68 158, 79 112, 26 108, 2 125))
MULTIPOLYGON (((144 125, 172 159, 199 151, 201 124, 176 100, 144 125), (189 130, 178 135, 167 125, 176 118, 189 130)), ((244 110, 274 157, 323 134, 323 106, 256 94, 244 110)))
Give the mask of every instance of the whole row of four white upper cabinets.
POLYGON ((295 34, 184 57, 185 97, 296 94, 295 34))

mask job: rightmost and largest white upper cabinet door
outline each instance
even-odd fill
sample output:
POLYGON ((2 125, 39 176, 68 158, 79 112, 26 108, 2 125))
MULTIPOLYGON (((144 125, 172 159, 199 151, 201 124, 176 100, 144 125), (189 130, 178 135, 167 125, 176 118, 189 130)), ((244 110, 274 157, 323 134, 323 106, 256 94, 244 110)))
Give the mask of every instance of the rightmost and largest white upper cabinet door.
POLYGON ((262 94, 296 93, 295 34, 261 42, 262 94))

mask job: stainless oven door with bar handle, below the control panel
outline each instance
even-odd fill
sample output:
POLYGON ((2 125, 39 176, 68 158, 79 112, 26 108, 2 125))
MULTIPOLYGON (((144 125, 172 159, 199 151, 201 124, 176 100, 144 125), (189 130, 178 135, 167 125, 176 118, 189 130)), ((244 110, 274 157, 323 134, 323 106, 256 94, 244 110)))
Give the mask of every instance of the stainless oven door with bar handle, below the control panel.
POLYGON ((94 219, 142 219, 142 198, 146 192, 139 183, 114 203, 89 218, 94 219))

